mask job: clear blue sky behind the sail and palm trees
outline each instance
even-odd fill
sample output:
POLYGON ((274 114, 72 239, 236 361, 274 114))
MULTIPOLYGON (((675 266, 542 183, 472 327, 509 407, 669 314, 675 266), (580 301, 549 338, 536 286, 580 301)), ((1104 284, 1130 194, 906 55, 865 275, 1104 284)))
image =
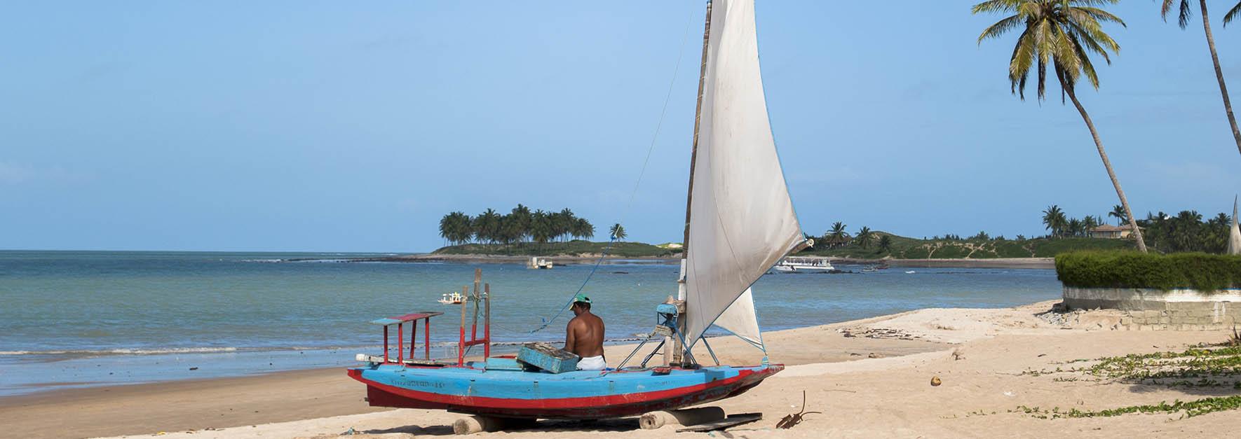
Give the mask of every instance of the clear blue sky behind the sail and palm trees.
MULTIPOLYGON (((443 213, 517 202, 680 241, 702 5, 6 2, 0 248, 431 251, 443 213)), ((1117 203, 1080 117, 1009 93, 1015 36, 975 45, 999 17, 970 5, 758 2, 807 232, 1040 234, 1049 205, 1117 203)), ((1121 55, 1080 95, 1134 211, 1231 208, 1201 26, 1112 10, 1121 55)), ((1241 29, 1215 35, 1241 89, 1241 29)))

